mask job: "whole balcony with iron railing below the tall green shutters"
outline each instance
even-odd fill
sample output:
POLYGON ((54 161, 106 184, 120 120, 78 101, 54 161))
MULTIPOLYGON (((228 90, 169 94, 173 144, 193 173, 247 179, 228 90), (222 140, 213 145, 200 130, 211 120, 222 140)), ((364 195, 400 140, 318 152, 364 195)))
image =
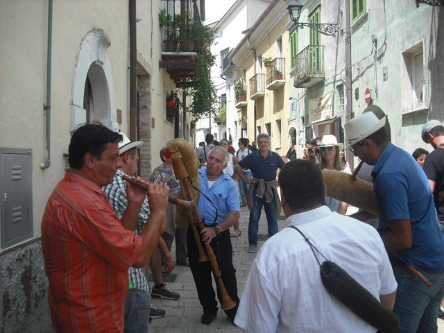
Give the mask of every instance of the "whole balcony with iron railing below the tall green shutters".
POLYGON ((325 80, 324 46, 309 45, 294 57, 294 87, 308 88, 325 80))

